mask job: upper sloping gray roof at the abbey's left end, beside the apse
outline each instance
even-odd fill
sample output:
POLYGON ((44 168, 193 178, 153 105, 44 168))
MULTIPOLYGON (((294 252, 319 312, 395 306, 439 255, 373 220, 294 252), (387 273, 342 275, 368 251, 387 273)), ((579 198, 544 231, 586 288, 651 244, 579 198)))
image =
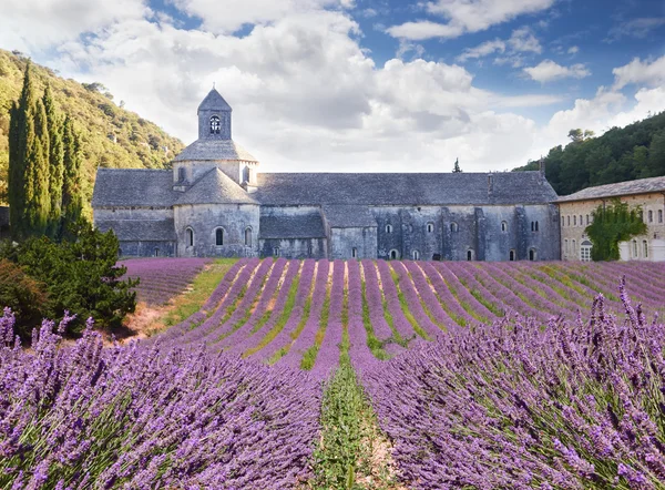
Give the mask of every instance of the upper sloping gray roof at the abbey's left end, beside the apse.
POLYGON ((173 172, 145 169, 98 169, 92 206, 172 206, 173 172))

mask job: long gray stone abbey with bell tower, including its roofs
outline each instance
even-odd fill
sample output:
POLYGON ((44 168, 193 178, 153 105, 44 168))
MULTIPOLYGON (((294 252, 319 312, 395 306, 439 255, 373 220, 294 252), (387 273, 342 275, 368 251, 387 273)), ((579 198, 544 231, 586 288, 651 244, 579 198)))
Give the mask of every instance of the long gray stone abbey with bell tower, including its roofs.
POLYGON ((550 261, 556 193, 538 172, 259 173, 214 89, 173 170, 100 169, 95 226, 123 256, 550 261))

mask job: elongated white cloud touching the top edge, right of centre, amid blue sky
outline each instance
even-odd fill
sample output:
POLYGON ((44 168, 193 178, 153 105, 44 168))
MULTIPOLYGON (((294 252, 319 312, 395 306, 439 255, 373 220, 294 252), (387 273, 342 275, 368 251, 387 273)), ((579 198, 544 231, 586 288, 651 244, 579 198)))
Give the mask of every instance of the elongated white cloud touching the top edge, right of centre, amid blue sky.
POLYGON ((549 9, 554 0, 437 0, 428 2, 429 13, 448 19, 448 23, 428 20, 406 22, 387 29, 395 38, 423 40, 457 38, 466 32, 479 32, 525 13, 549 9))

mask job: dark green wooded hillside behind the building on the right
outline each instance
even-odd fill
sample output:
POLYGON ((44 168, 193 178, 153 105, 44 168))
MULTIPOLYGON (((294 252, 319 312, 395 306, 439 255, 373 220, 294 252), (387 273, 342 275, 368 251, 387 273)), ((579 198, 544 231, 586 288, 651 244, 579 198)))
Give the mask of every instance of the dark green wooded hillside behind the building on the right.
MULTIPOLYGON (((584 187, 665 175, 665 112, 613 127, 602 136, 571 130, 571 143, 550 150, 545 175, 559 195, 584 187)), ((514 171, 538 170, 538 162, 514 171)))

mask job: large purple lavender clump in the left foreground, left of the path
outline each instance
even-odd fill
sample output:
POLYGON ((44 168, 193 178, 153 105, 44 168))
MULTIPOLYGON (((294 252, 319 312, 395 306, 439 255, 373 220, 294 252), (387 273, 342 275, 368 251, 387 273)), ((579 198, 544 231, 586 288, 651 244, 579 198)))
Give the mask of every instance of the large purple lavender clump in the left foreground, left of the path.
POLYGON ((89 324, 32 351, 0 320, 0 487, 293 488, 310 474, 320 388, 297 370, 205 348, 103 349, 89 324), (269 462, 269 463, 268 463, 269 462))

